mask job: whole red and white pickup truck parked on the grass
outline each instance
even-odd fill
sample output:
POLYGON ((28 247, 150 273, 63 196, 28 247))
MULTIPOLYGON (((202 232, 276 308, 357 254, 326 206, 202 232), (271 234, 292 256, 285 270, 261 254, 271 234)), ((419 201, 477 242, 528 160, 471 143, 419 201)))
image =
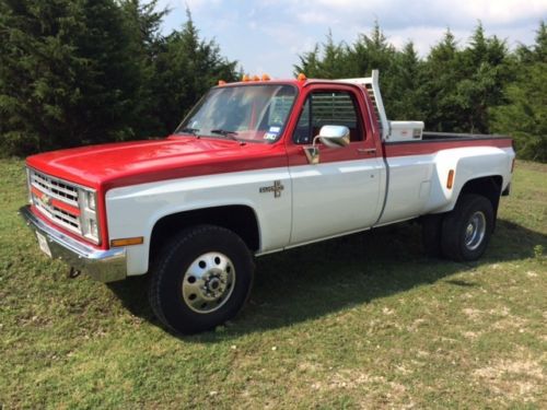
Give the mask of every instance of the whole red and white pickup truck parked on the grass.
POLYGON ((387 120, 377 72, 221 82, 166 139, 30 156, 20 212, 48 256, 104 282, 148 272, 160 320, 201 331, 244 305, 254 256, 419 219, 429 253, 479 258, 512 140, 422 129, 387 120))

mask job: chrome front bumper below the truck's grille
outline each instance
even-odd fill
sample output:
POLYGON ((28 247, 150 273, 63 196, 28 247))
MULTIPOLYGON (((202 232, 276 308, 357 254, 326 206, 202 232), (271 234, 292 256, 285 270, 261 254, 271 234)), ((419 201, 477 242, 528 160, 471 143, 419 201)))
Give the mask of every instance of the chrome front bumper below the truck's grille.
POLYGON ((101 282, 127 277, 126 248, 95 249, 46 224, 36 218, 30 206, 21 208, 19 213, 31 230, 46 238, 53 258, 62 259, 68 266, 101 282))

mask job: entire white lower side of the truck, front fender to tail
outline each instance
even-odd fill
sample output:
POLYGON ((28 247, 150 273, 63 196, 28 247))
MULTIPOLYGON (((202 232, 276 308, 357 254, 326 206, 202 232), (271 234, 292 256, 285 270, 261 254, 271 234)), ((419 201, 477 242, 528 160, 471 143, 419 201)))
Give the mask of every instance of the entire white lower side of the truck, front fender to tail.
POLYGON ((453 209, 469 179, 500 175, 511 181, 512 149, 458 148, 434 154, 353 160, 188 177, 115 188, 106 195, 110 238, 143 236, 127 248, 128 274, 148 271, 154 224, 163 216, 222 206, 247 206, 258 221, 257 255, 453 209), (446 188, 450 169, 454 187, 446 188), (284 189, 259 192, 280 180, 284 189))

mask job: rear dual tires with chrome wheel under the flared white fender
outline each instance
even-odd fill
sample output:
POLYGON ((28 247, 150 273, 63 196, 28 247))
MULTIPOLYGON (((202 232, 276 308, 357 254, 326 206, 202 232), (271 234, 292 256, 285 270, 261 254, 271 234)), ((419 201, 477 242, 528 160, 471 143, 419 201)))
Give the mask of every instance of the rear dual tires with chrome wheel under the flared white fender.
POLYGON ((480 195, 464 194, 454 210, 444 216, 442 253, 455 261, 477 260, 485 253, 492 231, 491 202, 480 195))

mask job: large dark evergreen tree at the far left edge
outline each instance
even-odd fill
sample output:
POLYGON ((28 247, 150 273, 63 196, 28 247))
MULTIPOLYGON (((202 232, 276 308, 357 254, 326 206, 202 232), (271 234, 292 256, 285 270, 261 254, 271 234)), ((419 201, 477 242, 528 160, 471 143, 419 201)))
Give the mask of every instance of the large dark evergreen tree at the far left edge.
POLYGON ((138 75, 113 0, 0 1, 4 153, 132 134, 138 75))

